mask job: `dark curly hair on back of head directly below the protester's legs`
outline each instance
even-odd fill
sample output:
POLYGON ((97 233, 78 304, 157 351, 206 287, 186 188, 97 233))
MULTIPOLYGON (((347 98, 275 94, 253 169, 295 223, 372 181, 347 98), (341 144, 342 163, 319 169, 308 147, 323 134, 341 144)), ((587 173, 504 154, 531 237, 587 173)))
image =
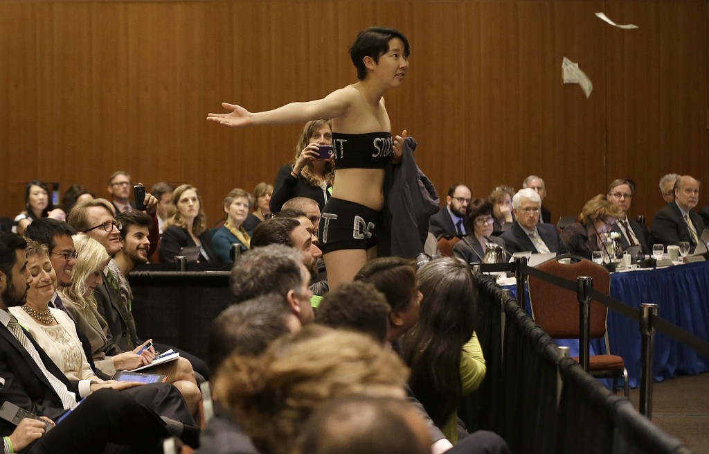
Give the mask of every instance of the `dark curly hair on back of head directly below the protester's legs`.
POLYGON ((320 301, 315 321, 330 328, 346 328, 386 341, 391 306, 372 284, 350 282, 328 292, 320 301))

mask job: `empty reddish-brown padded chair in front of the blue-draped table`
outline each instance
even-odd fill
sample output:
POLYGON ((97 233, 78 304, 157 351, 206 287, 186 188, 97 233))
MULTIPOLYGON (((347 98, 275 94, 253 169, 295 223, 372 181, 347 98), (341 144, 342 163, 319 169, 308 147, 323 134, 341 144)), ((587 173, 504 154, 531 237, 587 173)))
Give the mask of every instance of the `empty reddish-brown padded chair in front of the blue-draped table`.
MULTIPOLYGON (((589 260, 566 265, 557 260, 549 260, 537 267, 551 275, 576 282, 579 276, 593 277, 593 288, 608 294, 610 289, 610 274, 604 267, 589 260)), ((544 331, 555 339, 579 338, 579 301, 576 292, 562 289, 534 277, 529 278, 530 304, 532 318, 544 331)), ((598 301, 591 301, 591 330, 589 339, 603 338, 605 355, 592 355, 588 358, 588 373, 593 377, 612 378, 613 391, 618 389, 618 379, 623 378, 625 397, 630 396, 627 381, 627 369, 623 358, 611 355, 608 345, 608 331, 605 321, 608 308, 598 301)), ((579 358, 575 357, 575 360, 579 358)))

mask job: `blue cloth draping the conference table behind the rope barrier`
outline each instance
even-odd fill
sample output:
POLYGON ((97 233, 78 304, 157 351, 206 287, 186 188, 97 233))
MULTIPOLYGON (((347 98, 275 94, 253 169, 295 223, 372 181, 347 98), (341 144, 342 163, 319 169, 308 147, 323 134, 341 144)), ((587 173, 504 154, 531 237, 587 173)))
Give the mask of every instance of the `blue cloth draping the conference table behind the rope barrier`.
MULTIPOLYGON (((503 288, 516 296, 514 286, 503 288)), ((636 309, 643 303, 657 304, 661 318, 709 341, 709 262, 611 273, 610 297, 636 309)), ((607 326, 610 352, 625 360, 630 387, 639 386, 640 323, 608 311, 607 326)), ((654 380, 709 371, 709 358, 698 355, 692 348, 660 331, 654 341, 654 380)), ((569 346, 571 355, 578 355, 578 340, 563 339, 557 343, 569 346)), ((592 341, 591 354, 594 353, 605 353, 605 345, 592 341)))

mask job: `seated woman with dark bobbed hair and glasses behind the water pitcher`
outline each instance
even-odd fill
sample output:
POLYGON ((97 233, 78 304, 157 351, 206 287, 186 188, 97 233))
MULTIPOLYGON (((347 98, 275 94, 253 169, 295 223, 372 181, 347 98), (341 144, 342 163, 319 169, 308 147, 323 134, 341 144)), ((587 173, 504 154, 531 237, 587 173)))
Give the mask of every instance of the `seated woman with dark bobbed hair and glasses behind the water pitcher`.
POLYGON ((505 248, 505 240, 492 235, 493 207, 489 201, 475 199, 465 212, 469 235, 453 246, 453 256, 466 263, 481 263, 485 258, 486 244, 493 243, 505 248))

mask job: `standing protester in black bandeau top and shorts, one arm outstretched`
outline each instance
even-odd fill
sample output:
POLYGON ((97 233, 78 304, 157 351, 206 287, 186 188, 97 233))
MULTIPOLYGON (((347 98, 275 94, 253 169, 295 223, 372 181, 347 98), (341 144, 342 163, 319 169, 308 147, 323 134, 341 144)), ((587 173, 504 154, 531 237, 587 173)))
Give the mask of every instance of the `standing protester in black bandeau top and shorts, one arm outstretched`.
POLYGON ((272 111, 247 111, 223 103, 228 114, 209 114, 225 126, 298 123, 330 118, 335 144, 333 196, 323 210, 320 247, 325 253, 330 288, 352 282, 359 268, 376 257, 376 228, 384 207, 384 169, 393 158, 401 162, 402 136, 391 135, 384 93, 401 86, 408 70, 406 36, 391 28, 359 32, 350 48, 357 82, 323 99, 294 102, 272 111), (352 228, 355 226, 355 228, 352 228))

